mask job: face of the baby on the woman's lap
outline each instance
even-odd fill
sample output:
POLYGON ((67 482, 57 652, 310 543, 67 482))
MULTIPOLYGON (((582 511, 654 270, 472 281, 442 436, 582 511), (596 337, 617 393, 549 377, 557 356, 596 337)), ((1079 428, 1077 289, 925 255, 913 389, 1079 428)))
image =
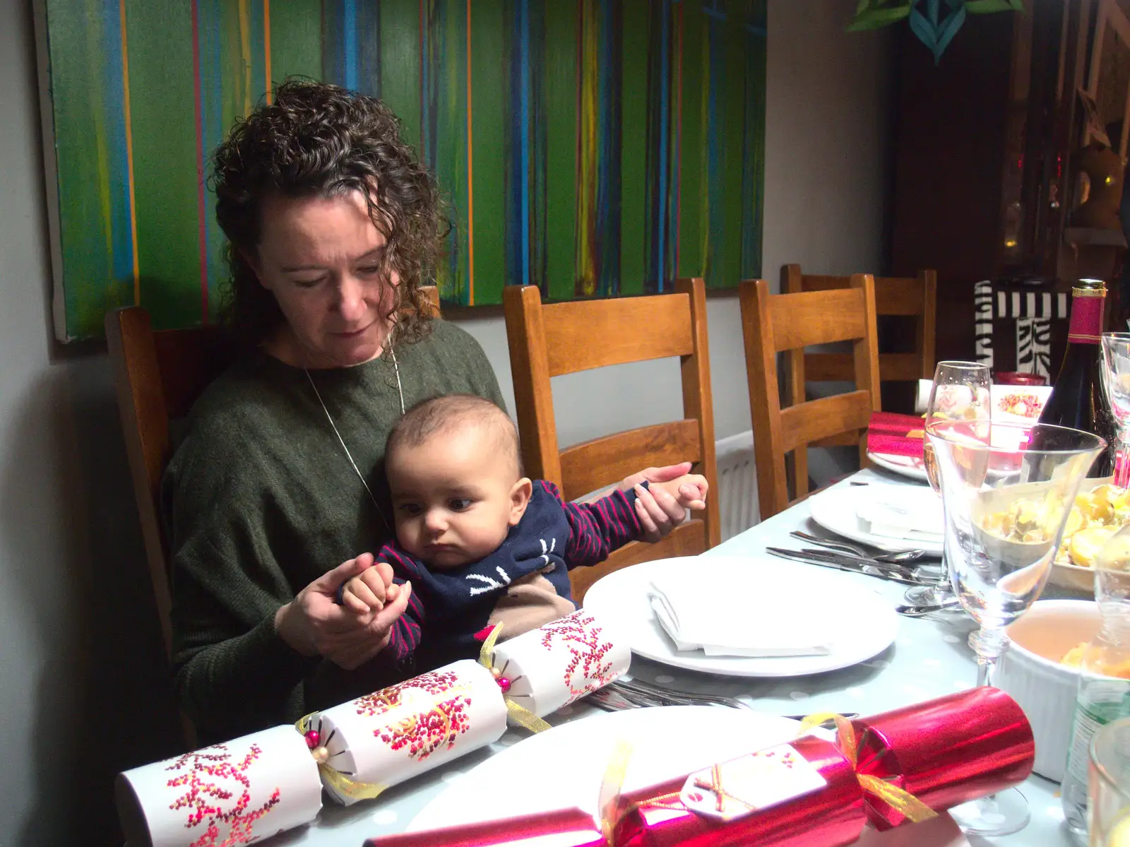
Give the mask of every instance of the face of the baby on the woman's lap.
POLYGON ((496 439, 478 426, 442 433, 386 459, 397 538, 433 568, 493 553, 525 511, 519 481, 496 439))

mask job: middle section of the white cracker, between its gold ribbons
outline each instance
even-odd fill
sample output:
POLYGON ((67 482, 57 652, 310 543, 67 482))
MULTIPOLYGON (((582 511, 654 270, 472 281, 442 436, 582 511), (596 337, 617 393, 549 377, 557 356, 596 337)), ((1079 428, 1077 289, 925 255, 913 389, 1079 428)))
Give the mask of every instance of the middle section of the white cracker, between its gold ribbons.
POLYGON ((331 768, 389 787, 498 741, 506 702, 490 672, 463 659, 327 709, 313 725, 331 768))

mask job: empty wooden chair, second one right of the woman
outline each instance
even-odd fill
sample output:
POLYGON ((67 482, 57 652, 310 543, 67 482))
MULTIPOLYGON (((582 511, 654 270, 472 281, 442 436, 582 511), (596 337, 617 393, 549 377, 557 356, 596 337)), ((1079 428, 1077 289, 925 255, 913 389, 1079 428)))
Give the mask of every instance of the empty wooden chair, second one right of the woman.
MULTIPOLYGON (((879 353, 875 329, 875 282, 857 274, 847 289, 770 294, 768 283, 741 283, 741 330, 754 422, 754 455, 762 519, 789 507, 785 453, 797 460, 796 496, 808 494, 808 444, 851 433, 867 456, 867 426, 879 409, 879 353), (781 407, 777 353, 816 344, 852 342, 855 390, 781 407), (803 466, 803 473, 800 467, 803 466)), ((825 441, 826 443, 826 441, 825 441)))

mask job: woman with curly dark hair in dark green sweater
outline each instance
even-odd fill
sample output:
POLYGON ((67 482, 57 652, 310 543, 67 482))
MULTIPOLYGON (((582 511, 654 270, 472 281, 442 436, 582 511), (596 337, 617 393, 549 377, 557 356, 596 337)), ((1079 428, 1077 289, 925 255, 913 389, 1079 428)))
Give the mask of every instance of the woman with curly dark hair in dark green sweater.
MULTIPOLYGON (((368 615, 334 596, 388 567, 364 551, 392 536, 383 452, 403 410, 447 394, 505 405, 478 344, 427 317, 447 223, 381 101, 287 80, 212 167, 225 321, 245 355, 193 407, 162 500, 177 692, 201 735, 224 738, 426 669, 382 654, 408 600, 391 572, 368 615)), ((661 492, 642 509, 651 539, 683 517, 661 492)))

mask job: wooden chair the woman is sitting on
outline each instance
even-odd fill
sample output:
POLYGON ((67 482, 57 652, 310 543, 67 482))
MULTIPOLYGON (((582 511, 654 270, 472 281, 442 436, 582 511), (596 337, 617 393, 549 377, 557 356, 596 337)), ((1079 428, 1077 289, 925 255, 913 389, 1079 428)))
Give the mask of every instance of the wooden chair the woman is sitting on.
MULTIPOLYGON (((438 314, 435 287, 425 291, 438 314)), ((107 312, 105 327, 149 577, 165 651, 172 656, 168 542, 159 510, 160 477, 172 457, 168 424, 188 415, 201 391, 232 363, 234 349, 217 327, 155 332, 141 306, 107 312)))

